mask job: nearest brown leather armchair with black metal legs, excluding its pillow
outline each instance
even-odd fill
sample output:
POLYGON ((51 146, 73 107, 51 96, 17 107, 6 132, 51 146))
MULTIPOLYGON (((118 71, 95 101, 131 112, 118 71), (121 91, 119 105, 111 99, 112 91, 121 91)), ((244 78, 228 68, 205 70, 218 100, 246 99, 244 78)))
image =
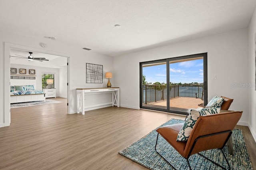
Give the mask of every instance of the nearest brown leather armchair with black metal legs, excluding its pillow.
MULTIPOLYGON (((199 152, 214 148, 218 148, 222 151, 222 154, 226 162, 228 163, 228 160, 222 148, 224 148, 226 142, 228 141, 228 138, 232 134, 232 130, 238 123, 241 116, 242 111, 200 116, 196 121, 196 124, 192 129, 192 132, 186 142, 176 141, 178 133, 183 126, 183 123, 160 127, 156 130, 158 134, 156 139, 155 150, 158 154, 160 154, 160 152, 157 151, 158 135, 160 134, 170 145, 172 145, 172 147, 174 147, 187 160, 190 170, 191 166, 189 164, 188 158, 192 154, 198 153, 199 155, 206 158, 199 152)), ((160 155, 162 156, 162 154, 160 155)), ((164 158, 164 156, 162 157, 164 158)), ((166 160, 166 158, 164 159, 166 160)), ((210 160, 208 158, 206 159, 210 160)), ((168 160, 166 161, 168 162, 168 160)), ((210 161, 213 162, 212 160, 210 161)), ((172 166, 172 168, 176 169, 170 162, 168 163, 172 166)), ((224 168, 223 166, 216 162, 213 163, 216 164, 217 166, 224 168)), ((229 163, 228 169, 230 170, 229 163)))

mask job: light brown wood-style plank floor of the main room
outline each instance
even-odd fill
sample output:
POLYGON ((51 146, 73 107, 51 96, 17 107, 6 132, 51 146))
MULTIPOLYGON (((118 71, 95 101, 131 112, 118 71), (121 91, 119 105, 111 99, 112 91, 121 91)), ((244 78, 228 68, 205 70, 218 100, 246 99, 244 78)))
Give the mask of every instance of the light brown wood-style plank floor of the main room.
MULTIPOLYGON (((118 154, 154 128, 182 115, 107 107, 67 114, 63 103, 11 109, 10 127, 0 128, 0 169, 147 169, 118 154)), ((256 169, 256 143, 248 127, 237 126, 256 169)))

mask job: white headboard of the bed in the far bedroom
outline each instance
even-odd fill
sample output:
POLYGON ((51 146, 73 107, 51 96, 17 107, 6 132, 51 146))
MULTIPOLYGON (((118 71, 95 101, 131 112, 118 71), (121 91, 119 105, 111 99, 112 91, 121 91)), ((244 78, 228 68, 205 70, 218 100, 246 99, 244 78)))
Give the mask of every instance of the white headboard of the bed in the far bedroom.
POLYGON ((36 76, 11 75, 10 85, 34 85, 34 88, 36 89, 36 76))

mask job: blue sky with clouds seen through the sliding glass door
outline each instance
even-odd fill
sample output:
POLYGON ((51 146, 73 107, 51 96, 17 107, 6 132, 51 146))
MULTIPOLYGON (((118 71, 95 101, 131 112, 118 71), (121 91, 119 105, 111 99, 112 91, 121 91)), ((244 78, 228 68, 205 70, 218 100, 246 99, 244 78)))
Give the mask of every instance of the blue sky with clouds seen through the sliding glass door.
MULTIPOLYGON (((148 83, 166 83, 166 64, 143 67, 143 75, 148 83)), ((203 83, 203 59, 170 64, 170 82, 203 83)))

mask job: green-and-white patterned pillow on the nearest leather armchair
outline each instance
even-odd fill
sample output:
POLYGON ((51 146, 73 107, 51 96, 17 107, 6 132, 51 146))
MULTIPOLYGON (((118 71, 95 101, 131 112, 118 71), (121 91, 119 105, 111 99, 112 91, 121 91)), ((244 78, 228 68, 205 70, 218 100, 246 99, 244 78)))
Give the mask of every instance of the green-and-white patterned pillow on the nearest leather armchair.
POLYGON ((212 115, 220 113, 220 108, 206 108, 206 109, 200 109, 200 110, 194 110, 191 109, 188 112, 188 118, 185 120, 183 127, 180 129, 180 132, 177 136, 177 141, 184 142, 188 140, 188 137, 190 136, 190 133, 196 124, 197 119, 200 116, 204 115, 212 115))

